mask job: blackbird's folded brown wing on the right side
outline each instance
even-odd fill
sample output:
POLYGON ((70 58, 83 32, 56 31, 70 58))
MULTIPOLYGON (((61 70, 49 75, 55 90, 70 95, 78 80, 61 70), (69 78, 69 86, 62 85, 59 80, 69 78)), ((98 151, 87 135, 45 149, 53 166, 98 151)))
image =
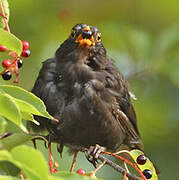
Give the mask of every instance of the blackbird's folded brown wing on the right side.
POLYGON ((109 73, 106 78, 106 87, 114 95, 113 114, 120 122, 121 129, 128 133, 126 143, 141 144, 140 134, 137 128, 137 120, 134 108, 130 101, 129 85, 119 70, 109 64, 106 68, 109 73))

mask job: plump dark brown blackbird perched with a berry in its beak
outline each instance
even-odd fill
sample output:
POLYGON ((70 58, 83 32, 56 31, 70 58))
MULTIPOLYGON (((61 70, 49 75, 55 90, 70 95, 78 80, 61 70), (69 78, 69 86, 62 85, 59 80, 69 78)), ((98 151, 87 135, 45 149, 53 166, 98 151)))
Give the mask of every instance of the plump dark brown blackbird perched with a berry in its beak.
MULTIPOLYGON (((127 80, 107 57, 96 27, 77 24, 43 62, 32 92, 59 122, 36 116, 60 147, 98 144, 115 152, 121 144, 141 148, 127 80)), ((34 125, 35 126, 35 125, 34 125)))

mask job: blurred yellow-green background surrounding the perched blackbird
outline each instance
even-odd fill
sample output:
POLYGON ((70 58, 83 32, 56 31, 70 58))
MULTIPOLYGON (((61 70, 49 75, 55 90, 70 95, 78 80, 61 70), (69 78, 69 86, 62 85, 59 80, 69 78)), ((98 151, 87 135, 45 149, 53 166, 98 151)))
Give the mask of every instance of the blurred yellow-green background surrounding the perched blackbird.
MULTIPOLYGON (((145 152, 160 169, 159 179, 179 179, 179 2, 9 0, 9 4, 11 32, 29 41, 32 53, 24 59, 18 85, 32 88, 41 62, 54 56, 73 25, 97 26, 108 55, 138 99, 133 104, 145 152)), ((65 153, 61 159, 55 145, 53 151, 59 169, 68 170, 72 156, 65 153)), ((83 154, 76 168, 93 169, 83 154)), ((97 176, 117 180, 120 175, 104 167, 97 176)))

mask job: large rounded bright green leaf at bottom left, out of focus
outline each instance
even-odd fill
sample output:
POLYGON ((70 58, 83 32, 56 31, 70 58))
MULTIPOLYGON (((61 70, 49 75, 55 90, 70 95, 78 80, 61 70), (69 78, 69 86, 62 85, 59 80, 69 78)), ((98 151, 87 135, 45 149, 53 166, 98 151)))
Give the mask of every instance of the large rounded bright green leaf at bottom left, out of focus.
POLYGON ((28 146, 18 146, 11 151, 24 174, 33 180, 47 180, 49 169, 42 154, 28 146))

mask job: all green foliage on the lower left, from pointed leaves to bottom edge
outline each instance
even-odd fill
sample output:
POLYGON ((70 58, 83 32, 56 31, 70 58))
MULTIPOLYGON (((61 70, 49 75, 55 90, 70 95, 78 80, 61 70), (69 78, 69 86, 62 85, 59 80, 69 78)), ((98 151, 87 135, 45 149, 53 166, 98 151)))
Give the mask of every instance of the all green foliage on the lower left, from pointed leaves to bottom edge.
POLYGON ((5 133, 5 126, 9 121, 15 123, 26 133, 14 133, 0 139, 0 172, 3 172, 2 179, 20 179, 20 172, 32 180, 63 180, 63 179, 89 179, 76 174, 58 173, 59 178, 52 177, 48 172, 47 162, 40 151, 25 146, 27 141, 40 136, 27 134, 22 119, 30 120, 38 124, 33 115, 40 115, 53 119, 45 110, 44 103, 32 93, 10 85, 0 85, 0 134, 5 133), (61 177, 61 178, 60 178, 61 177))

